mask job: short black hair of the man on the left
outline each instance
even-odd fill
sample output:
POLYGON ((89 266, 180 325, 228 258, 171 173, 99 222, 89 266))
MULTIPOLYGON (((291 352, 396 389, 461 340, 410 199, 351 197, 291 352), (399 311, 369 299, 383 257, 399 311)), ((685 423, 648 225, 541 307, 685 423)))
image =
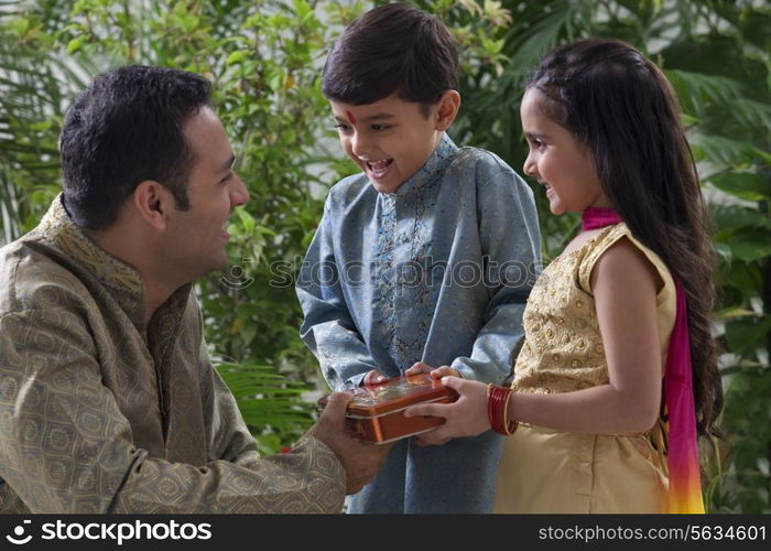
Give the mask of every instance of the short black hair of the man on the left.
POLYGON ((183 127, 210 105, 210 93, 204 77, 172 68, 131 65, 96 77, 67 111, 59 139, 73 222, 108 228, 144 180, 163 184, 187 209, 194 159, 183 127))

